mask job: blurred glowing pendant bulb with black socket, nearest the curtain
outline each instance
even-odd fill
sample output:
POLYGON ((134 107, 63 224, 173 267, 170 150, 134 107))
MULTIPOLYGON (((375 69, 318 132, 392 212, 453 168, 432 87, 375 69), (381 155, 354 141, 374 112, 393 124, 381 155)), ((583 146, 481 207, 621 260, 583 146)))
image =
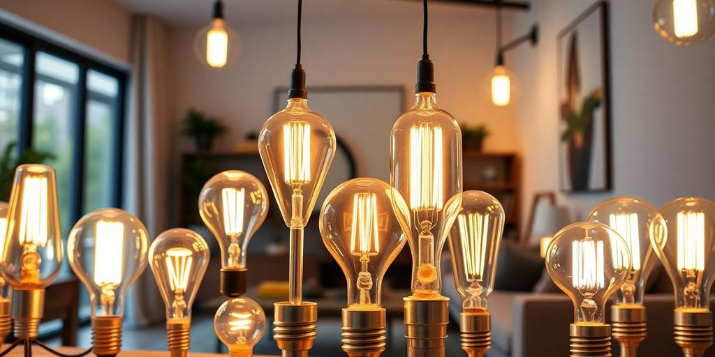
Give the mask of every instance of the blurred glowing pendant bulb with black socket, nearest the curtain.
POLYGON ((223 1, 216 0, 211 22, 194 38, 194 52, 203 64, 222 68, 237 57, 238 36, 224 19, 223 1))

